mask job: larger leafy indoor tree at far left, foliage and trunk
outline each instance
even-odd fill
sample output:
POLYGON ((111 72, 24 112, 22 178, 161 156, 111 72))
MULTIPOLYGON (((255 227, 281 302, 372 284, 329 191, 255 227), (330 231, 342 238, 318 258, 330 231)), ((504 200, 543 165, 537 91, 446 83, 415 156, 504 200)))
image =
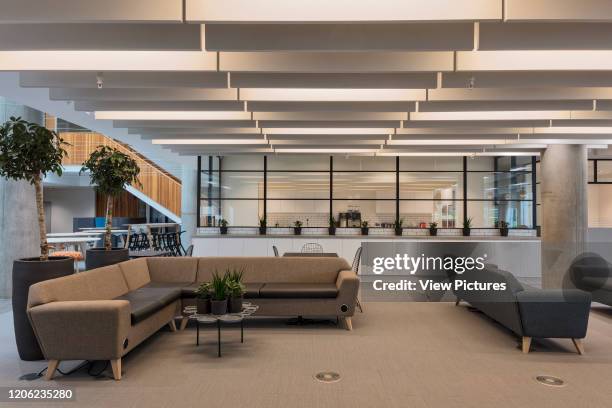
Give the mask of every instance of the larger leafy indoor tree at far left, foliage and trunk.
POLYGON ((62 175, 67 145, 54 131, 21 118, 11 117, 0 126, 0 176, 25 180, 36 190, 41 261, 49 259, 42 180, 47 173, 62 175))

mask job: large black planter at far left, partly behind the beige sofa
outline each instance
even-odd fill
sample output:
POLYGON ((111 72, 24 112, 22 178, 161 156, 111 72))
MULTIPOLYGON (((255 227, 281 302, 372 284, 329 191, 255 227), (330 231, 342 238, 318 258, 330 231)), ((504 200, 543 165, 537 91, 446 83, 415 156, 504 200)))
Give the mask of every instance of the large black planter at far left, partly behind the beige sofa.
POLYGON ((48 261, 24 258, 13 262, 13 323, 17 351, 22 360, 44 359, 26 313, 30 286, 73 273, 74 260, 67 256, 52 256, 48 261))

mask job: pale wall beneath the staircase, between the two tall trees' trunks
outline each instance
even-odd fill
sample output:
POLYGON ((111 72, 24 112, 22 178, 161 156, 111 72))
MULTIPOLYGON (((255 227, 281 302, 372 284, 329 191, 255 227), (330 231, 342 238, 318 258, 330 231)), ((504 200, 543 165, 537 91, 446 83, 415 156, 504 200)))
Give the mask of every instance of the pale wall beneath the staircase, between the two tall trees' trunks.
POLYGON ((44 197, 51 203, 49 232, 71 232, 73 218, 96 215, 96 193, 91 187, 45 187, 44 197))

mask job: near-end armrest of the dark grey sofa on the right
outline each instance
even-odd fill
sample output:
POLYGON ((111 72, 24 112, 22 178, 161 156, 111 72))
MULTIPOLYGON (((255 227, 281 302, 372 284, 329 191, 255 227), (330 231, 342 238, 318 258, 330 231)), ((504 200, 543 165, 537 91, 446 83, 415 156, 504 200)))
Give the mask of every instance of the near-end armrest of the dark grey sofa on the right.
POLYGON ((541 338, 586 336, 591 295, 576 289, 530 289, 516 294, 523 335, 541 338))

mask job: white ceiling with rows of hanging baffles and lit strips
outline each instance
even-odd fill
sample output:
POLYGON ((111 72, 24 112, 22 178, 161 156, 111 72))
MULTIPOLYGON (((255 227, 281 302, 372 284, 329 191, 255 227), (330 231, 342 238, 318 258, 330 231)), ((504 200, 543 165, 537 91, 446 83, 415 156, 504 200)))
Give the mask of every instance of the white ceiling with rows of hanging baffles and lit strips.
POLYGON ((0 71, 172 155, 612 144, 606 0, 1 4, 0 71))

